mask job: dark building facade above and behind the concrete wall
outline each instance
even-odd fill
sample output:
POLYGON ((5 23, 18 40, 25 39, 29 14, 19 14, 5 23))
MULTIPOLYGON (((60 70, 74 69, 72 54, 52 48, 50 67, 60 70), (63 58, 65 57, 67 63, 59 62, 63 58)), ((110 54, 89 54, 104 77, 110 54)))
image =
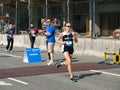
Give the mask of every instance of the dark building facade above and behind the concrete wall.
POLYGON ((64 22, 71 22, 76 32, 90 37, 96 33, 99 36, 111 36, 120 27, 120 0, 17 1, 17 7, 15 0, 4 1, 4 15, 9 13, 13 23, 17 19, 18 31, 25 30, 30 21, 41 28, 41 18, 58 18, 61 27, 64 22))

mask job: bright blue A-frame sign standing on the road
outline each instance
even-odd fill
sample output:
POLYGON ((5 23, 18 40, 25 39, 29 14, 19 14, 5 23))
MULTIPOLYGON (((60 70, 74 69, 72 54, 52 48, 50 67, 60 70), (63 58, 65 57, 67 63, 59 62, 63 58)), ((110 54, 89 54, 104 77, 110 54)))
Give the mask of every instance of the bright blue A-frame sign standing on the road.
POLYGON ((42 62, 40 49, 26 48, 24 52, 23 62, 25 63, 42 62))

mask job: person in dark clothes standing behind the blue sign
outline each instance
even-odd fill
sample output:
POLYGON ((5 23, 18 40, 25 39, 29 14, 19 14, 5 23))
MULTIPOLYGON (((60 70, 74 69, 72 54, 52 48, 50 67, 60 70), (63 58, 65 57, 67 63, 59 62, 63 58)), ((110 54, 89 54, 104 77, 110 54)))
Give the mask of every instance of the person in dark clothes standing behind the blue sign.
POLYGON ((28 28, 27 32, 29 33, 31 48, 34 48, 34 43, 36 39, 36 34, 38 32, 38 28, 35 28, 34 24, 31 22, 30 27, 28 28))

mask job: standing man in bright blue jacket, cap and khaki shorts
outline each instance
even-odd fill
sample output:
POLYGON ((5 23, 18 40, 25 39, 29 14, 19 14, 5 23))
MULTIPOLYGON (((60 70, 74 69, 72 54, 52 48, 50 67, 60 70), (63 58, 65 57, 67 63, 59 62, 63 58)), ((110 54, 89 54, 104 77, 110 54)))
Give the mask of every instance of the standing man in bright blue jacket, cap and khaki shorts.
POLYGON ((50 19, 47 19, 45 27, 46 46, 48 51, 49 62, 47 65, 52 65, 54 60, 54 44, 55 44, 55 26, 50 19))

